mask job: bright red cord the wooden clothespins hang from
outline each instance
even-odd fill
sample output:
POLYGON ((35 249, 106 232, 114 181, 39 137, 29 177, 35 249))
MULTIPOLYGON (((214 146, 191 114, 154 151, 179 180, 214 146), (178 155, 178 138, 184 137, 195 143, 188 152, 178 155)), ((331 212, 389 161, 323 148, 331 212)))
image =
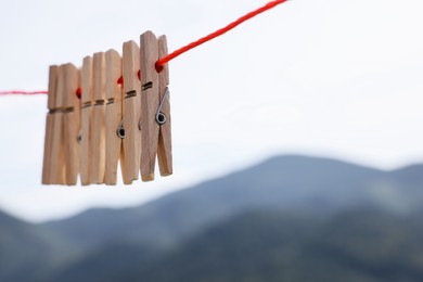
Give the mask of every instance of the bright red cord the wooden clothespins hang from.
MULTIPOLYGON (((274 1, 271 1, 269 3, 267 3, 266 5, 264 7, 260 7, 258 8, 257 10, 253 11, 253 12, 249 12, 247 13, 246 15, 243 15, 241 16, 240 18, 238 18, 235 22, 232 22, 230 23, 229 25, 227 25, 226 27, 223 28, 220 28, 211 34, 209 34, 208 36, 205 36, 203 38, 200 38, 198 40, 194 41, 194 42, 191 42, 176 51, 174 51, 172 53, 159 59, 157 62, 156 62, 156 70, 159 73, 164 65, 166 65, 168 62, 170 62, 171 60, 174 60, 175 57, 190 51, 191 49, 194 49, 207 41, 210 41, 211 39, 215 39, 216 37, 219 37, 226 33, 228 33, 229 30, 235 28, 236 26, 241 25, 242 23, 244 23, 245 21, 248 21, 251 20, 252 17, 255 17, 256 15, 258 14, 261 14, 262 12, 266 12, 279 4, 282 4, 284 2, 286 2, 287 0, 274 0, 274 1)), ((21 91, 21 90, 13 90, 13 91, 0 91, 0 95, 10 95, 10 94, 24 94, 24 95, 36 95, 36 94, 48 94, 48 91, 21 91)), ((78 94, 78 93, 76 93, 78 94)), ((79 93, 80 95, 80 93, 79 93)))

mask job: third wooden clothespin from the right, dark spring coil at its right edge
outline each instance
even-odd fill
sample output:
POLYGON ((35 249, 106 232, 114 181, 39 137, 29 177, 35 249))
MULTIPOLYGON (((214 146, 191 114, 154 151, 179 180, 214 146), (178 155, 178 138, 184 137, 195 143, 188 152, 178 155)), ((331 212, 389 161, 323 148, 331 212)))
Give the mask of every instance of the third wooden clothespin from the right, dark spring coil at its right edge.
POLYGON ((115 185, 117 180, 117 164, 120 158, 124 183, 130 184, 125 170, 125 155, 123 139, 125 128, 123 125, 123 88, 119 84, 121 78, 121 59, 117 51, 108 50, 105 53, 106 76, 106 158, 104 183, 115 185))

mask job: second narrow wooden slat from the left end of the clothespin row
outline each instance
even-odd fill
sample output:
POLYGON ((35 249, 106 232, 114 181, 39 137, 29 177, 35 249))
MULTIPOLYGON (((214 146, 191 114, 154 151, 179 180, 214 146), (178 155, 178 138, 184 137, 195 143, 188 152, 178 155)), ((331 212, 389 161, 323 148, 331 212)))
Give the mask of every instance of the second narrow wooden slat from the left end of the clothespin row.
POLYGON ((54 110, 52 112, 52 137, 51 137, 51 163, 50 163, 50 183, 66 184, 65 175, 65 154, 64 154, 64 131, 63 131, 63 100, 65 97, 65 66, 61 65, 57 69, 56 95, 54 110))

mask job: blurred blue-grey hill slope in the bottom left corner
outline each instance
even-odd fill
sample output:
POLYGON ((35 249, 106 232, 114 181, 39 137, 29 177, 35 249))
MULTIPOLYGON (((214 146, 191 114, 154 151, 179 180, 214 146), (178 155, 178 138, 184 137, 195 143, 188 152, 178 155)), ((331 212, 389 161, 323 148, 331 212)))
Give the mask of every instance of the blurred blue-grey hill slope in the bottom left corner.
POLYGON ((80 254, 76 245, 49 229, 21 221, 2 211, 0 230, 0 281, 43 277, 80 254))

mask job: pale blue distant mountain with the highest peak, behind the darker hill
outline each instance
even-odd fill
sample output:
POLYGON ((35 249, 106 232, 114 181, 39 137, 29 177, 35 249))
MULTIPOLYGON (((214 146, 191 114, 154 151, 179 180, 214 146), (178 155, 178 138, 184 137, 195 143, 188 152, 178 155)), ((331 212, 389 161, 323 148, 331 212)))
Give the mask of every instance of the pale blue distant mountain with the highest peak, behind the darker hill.
POLYGON ((44 226, 87 247, 115 241, 168 247, 246 208, 335 213, 376 205, 406 213, 423 202, 423 191, 413 189, 422 187, 423 179, 415 178, 413 188, 408 187, 408 170, 387 172, 328 158, 280 156, 141 207, 92 209, 44 226))

